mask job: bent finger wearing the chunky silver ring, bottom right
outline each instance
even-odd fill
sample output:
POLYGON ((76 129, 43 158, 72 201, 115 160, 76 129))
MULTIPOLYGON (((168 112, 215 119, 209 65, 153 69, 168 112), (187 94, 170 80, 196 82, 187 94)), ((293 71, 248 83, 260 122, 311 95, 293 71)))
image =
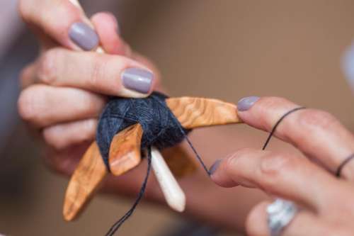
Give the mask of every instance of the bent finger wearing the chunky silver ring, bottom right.
MULTIPOLYGON (((268 215, 266 213, 267 206, 270 203, 263 202, 255 206, 251 213, 247 216, 246 231, 251 236, 270 236, 268 228, 268 215)), ((313 213, 308 210, 299 210, 295 218, 287 225, 281 235, 282 236, 323 236, 329 233, 328 227, 319 220, 313 213)))

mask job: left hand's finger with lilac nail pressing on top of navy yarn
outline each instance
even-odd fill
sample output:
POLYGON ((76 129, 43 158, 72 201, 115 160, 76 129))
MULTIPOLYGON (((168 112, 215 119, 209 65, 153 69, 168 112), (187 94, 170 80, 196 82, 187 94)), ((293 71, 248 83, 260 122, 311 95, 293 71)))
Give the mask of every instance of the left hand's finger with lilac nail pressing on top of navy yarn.
POLYGON ((38 82, 71 86, 110 96, 142 98, 152 93, 154 74, 120 55, 53 48, 38 61, 38 82))

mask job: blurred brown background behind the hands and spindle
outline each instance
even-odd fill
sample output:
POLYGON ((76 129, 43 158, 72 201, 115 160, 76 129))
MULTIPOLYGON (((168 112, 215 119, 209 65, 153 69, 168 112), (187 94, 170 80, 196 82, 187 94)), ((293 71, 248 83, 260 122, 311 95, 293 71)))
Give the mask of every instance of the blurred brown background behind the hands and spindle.
MULTIPOLYGON (((341 57, 354 36, 354 1, 156 0, 128 5, 120 21, 122 34, 156 62, 171 96, 235 103, 243 96, 285 96, 326 109, 354 130, 353 94, 341 71, 341 57)), ((246 128, 228 129, 264 137, 246 128)), ((6 186, 0 189, 0 232, 6 235, 102 235, 132 202, 96 197, 78 221, 64 223, 68 180, 45 169, 22 125, 5 147, 4 172, 7 165, 21 166, 0 181, 6 186)), ((164 235, 181 220, 169 210, 142 204, 119 235, 164 235)))

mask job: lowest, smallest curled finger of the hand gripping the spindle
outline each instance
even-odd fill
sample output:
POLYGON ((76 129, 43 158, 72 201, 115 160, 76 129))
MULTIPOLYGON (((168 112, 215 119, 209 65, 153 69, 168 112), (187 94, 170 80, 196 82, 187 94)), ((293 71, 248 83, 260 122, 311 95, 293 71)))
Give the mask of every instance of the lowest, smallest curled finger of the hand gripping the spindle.
POLYGON ((55 150, 62 150, 81 142, 93 140, 97 123, 96 118, 91 118, 53 125, 43 130, 43 137, 45 142, 55 150))

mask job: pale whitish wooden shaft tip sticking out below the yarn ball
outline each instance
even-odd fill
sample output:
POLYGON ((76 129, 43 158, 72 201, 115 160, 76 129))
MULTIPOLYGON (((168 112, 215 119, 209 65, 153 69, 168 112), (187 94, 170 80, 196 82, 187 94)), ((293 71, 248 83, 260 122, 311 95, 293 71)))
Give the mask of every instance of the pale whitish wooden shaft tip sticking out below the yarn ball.
POLYGON ((164 193, 167 204, 178 212, 185 209, 185 194, 156 147, 152 147, 152 169, 164 193))

